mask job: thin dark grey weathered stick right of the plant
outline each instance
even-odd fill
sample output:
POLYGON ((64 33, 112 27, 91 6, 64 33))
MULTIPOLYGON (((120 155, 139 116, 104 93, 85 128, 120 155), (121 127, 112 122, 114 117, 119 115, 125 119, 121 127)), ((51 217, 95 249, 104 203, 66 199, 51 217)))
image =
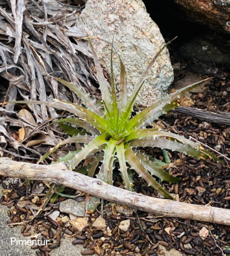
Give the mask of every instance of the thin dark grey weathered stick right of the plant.
POLYGON ((195 109, 194 107, 177 107, 174 109, 175 112, 185 113, 189 116, 195 116, 196 118, 203 118, 206 121, 219 123, 219 124, 228 124, 230 125, 230 113, 226 112, 209 112, 202 109, 195 109))

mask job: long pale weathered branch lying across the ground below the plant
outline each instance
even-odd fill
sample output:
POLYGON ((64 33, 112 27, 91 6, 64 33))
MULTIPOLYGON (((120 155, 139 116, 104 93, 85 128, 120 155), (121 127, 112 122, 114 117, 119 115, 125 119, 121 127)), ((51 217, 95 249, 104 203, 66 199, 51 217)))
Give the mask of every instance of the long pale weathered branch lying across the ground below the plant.
POLYGON ((65 163, 43 166, 0 158, 0 175, 63 184, 104 200, 127 205, 140 211, 166 215, 166 217, 186 218, 230 226, 230 211, 228 209, 180 203, 119 189, 101 180, 73 172, 67 168, 65 163))

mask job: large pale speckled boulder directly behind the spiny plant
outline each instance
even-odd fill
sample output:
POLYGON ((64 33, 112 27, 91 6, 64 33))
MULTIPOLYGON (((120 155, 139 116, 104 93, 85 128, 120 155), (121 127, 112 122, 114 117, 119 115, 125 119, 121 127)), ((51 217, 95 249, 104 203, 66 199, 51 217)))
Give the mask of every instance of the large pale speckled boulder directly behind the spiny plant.
MULTIPOLYGON (((100 36, 114 45, 127 69, 128 88, 133 90, 151 58, 165 43, 159 27, 146 12, 142 0, 88 0, 78 24, 91 36, 100 36)), ((111 45, 93 39, 93 45, 110 70, 111 45)), ((114 73, 119 82, 119 59, 114 54, 114 73)), ((137 101, 147 105, 166 95, 173 81, 168 50, 157 58, 137 101)))

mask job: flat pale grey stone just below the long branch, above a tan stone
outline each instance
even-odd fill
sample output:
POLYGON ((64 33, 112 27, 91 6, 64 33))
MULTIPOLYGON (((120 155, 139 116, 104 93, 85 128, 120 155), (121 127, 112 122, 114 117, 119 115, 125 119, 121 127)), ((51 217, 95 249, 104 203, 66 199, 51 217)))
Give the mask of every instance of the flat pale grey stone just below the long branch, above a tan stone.
POLYGON ((74 201, 73 199, 62 201, 60 203, 59 210, 65 214, 72 214, 81 217, 84 217, 85 215, 85 206, 74 201))

